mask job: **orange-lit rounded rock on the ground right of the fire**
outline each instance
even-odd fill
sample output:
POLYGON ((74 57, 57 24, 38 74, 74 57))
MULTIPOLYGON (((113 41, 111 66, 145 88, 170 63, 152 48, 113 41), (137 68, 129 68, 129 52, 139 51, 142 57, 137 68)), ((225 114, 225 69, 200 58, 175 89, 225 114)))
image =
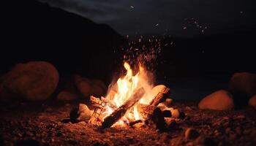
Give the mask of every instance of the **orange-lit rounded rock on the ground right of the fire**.
POLYGON ((216 91, 202 99, 198 107, 200 110, 231 110, 234 107, 232 98, 232 95, 227 91, 216 91))

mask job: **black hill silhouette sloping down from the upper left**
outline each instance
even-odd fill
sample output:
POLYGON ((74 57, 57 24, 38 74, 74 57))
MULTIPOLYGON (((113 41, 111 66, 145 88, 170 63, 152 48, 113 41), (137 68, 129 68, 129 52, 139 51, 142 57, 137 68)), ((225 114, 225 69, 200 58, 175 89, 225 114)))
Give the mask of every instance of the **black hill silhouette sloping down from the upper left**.
POLYGON ((18 62, 43 60, 60 72, 110 77, 114 50, 123 41, 110 26, 35 0, 1 6, 1 73, 18 62))

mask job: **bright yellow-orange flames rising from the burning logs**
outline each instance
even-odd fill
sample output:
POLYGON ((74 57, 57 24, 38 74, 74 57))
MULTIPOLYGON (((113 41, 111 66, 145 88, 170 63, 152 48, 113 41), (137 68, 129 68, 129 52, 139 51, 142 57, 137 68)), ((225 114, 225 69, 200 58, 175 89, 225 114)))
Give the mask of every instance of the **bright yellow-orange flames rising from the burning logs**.
MULTIPOLYGON (((146 72, 146 69, 144 69, 143 66, 139 64, 139 72, 133 76, 132 69, 127 62, 124 63, 124 68, 127 70, 127 74, 125 74, 125 76, 122 78, 118 78, 116 82, 116 93, 113 95, 113 92, 111 93, 110 91, 115 91, 115 88, 110 88, 106 98, 112 102, 111 104, 118 108, 124 104, 124 102, 127 101, 130 96, 132 96, 132 93, 134 93, 136 89, 143 87, 146 91, 146 94, 142 97, 142 99, 140 99, 139 103, 149 104, 153 98, 150 96, 153 85, 149 83, 150 77, 148 77, 148 72, 146 72)), ((116 110, 113 107, 109 107, 108 105, 105 109, 105 117, 116 110)), ((116 124, 124 125, 125 123, 129 123, 129 120, 142 120, 140 118, 137 105, 135 105, 131 111, 133 111, 133 113, 127 112, 127 114, 124 115, 121 120, 118 120, 116 124)))

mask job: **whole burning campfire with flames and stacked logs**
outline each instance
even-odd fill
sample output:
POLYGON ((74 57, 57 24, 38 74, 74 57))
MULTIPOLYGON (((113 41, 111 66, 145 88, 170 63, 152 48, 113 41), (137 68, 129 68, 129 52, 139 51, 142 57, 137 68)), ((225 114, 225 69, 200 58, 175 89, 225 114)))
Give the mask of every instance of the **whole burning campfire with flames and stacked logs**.
POLYGON ((170 102, 170 88, 154 86, 150 82, 149 72, 141 64, 138 65, 137 74, 127 62, 124 68, 126 74, 110 85, 105 97, 91 96, 91 105, 79 105, 78 120, 86 120, 100 128, 134 126, 137 123, 165 128, 165 120, 171 117, 173 109, 161 102, 170 102))

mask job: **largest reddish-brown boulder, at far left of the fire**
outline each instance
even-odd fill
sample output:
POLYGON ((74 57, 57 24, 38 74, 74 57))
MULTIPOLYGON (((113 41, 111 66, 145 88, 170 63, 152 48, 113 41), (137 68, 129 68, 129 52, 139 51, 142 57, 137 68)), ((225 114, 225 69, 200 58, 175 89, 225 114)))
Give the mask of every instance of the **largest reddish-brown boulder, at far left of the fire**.
POLYGON ((59 72, 45 61, 17 64, 1 77, 1 99, 23 98, 29 101, 48 99, 59 82, 59 72))

